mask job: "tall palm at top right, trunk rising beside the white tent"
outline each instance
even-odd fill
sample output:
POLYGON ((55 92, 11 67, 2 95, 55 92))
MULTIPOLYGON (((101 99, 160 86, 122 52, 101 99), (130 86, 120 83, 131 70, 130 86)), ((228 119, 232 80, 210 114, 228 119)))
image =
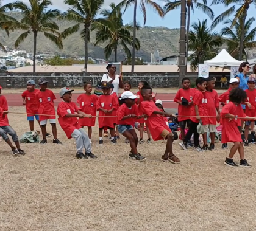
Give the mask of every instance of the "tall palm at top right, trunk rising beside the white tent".
POLYGON ((252 1, 252 0, 213 0, 212 1, 212 5, 224 4, 225 7, 229 7, 229 9, 221 13, 221 15, 217 16, 213 20, 212 26, 211 26, 212 29, 216 27, 220 22, 224 21, 225 19, 233 15, 233 13, 235 13, 235 18, 232 21, 230 29, 232 29, 232 27, 235 26, 236 22, 238 21, 238 18, 243 18, 243 23, 241 24, 241 38, 240 38, 240 44, 239 44, 239 49, 240 49, 239 60, 242 59, 242 55, 243 55, 244 25, 245 25, 246 16, 247 16, 247 10, 249 9, 251 3, 255 5, 256 1, 252 1), (230 5, 232 6, 230 7, 230 5))

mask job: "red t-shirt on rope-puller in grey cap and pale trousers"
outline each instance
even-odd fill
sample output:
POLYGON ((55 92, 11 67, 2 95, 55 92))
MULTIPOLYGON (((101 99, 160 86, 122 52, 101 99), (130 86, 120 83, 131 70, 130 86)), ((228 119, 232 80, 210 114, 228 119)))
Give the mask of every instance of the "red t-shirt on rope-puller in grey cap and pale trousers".
POLYGON ((68 139, 71 138, 71 134, 75 129, 80 129, 81 126, 78 123, 77 117, 66 117, 66 114, 76 114, 80 108, 76 106, 74 102, 60 102, 57 108, 57 114, 59 117, 59 123, 63 131, 66 133, 68 139))

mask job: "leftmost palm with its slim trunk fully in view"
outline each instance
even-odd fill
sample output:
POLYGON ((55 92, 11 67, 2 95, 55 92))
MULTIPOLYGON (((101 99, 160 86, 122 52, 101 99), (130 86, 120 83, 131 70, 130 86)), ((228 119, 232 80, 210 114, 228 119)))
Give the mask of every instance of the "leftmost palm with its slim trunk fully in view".
POLYGON ((59 49, 63 48, 60 40, 59 26, 54 19, 60 15, 60 10, 49 9, 52 5, 50 0, 29 0, 29 4, 22 1, 13 2, 13 9, 19 10, 23 18, 18 21, 4 22, 12 30, 25 30, 24 33, 15 41, 15 47, 20 46, 21 43, 30 34, 34 35, 34 52, 33 52, 33 74, 35 75, 35 55, 37 52, 37 35, 43 32, 44 36, 55 43, 59 49))

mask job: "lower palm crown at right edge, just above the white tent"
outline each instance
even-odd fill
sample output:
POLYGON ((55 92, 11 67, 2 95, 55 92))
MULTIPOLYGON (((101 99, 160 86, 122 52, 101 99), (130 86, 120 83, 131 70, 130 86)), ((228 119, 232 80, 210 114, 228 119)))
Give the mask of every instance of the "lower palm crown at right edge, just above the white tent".
MULTIPOLYGON (((232 20, 227 19, 224 24, 232 24, 232 20)), ((255 18, 249 18, 245 25, 244 25, 244 40, 243 40, 243 55, 247 60, 247 54, 245 49, 253 49, 256 47, 256 41, 254 41, 254 37, 256 35, 256 27, 250 29, 252 23, 255 22, 255 18)), ((221 36, 224 35, 224 42, 227 44, 227 50, 229 51, 230 55, 234 58, 238 58, 239 56, 239 44, 241 38, 241 27, 243 24, 243 18, 240 18, 233 29, 226 26, 221 30, 221 36)))

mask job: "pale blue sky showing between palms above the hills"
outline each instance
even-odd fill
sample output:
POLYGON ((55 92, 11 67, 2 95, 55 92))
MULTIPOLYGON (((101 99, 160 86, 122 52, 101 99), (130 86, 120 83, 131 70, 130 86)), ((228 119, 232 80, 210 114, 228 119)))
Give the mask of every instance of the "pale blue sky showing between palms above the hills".
MULTIPOLYGON (((139 1, 140 0, 138 0, 138 2, 139 1)), ((4 2, 4 4, 7 4, 7 2, 10 2, 10 0, 4 0, 3 2, 4 2)), ((13 2, 13 0, 11 0, 11 2, 13 2)), ((28 2, 28 0, 24 0, 24 2, 28 2)), ((52 2, 53 2, 52 8, 57 8, 60 10, 67 9, 67 6, 63 3, 62 0, 52 0, 52 2)), ((118 4, 120 2, 120 0, 105 0, 104 7, 107 7, 111 2, 115 2, 116 4, 118 4)), ((156 0, 156 2, 158 2, 158 4, 160 4, 160 5, 165 4, 165 2, 163 2, 163 1, 156 0)), ((208 1, 208 2, 210 2, 210 1, 208 1)), ((223 5, 215 5, 212 7, 212 10, 215 13, 215 16, 218 16, 220 13, 224 12, 225 7, 223 5)), ((251 6, 249 8, 248 17, 251 18, 252 16, 254 16, 254 11, 255 11, 255 7, 251 6)), ((129 9, 127 9, 126 13, 124 13, 124 22, 125 23, 132 22, 132 17, 133 17, 133 7, 129 7, 129 9)), ((200 10, 195 9, 194 15, 191 15, 190 22, 192 23, 194 21, 197 21, 197 19, 199 19, 201 21, 203 19, 208 19, 209 26, 211 24, 211 20, 208 18, 207 15, 202 13, 200 10)), ((138 9, 137 21, 140 22, 141 26, 143 26, 143 16, 140 13, 140 9, 138 9)), ((154 12, 154 10, 152 10, 150 7, 147 7, 146 26, 165 26, 165 27, 169 27, 169 28, 179 28, 180 27, 180 9, 173 10, 172 12, 169 12, 168 14, 166 14, 164 19, 161 19, 154 12)), ((254 23, 254 26, 256 26, 256 22, 254 23)), ((222 27, 223 27, 222 24, 219 24, 216 27, 216 31, 219 32, 219 30, 221 30, 222 27)))

